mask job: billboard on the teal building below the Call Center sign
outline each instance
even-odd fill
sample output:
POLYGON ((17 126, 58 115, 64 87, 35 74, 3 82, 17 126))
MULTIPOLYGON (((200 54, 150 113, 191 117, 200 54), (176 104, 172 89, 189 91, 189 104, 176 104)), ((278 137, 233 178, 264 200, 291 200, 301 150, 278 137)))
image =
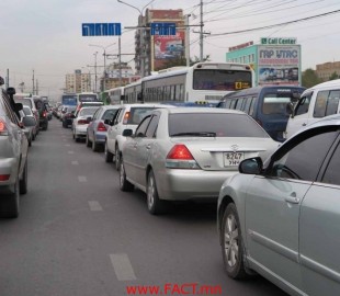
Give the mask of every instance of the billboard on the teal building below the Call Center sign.
POLYGON ((264 84, 301 84, 299 45, 259 46, 258 82, 264 84))

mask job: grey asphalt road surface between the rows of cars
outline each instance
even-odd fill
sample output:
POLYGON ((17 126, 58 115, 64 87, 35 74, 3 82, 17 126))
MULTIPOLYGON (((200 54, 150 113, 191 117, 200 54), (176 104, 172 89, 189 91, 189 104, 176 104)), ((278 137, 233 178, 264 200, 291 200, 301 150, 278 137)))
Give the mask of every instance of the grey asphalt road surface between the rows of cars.
POLYGON ((1 296, 286 295, 260 276, 227 277, 215 204, 151 216, 145 194, 121 192, 114 163, 56 118, 30 148, 20 217, 0 219, 0 254, 1 296), (133 294, 143 286, 160 291, 133 294))

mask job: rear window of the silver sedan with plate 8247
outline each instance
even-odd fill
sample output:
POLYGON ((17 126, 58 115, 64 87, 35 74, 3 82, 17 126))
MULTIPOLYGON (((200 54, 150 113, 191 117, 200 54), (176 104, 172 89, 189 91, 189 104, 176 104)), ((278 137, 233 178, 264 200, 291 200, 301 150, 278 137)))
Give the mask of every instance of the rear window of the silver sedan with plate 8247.
POLYGON ((247 114, 177 113, 169 115, 170 137, 251 137, 269 135, 247 114))

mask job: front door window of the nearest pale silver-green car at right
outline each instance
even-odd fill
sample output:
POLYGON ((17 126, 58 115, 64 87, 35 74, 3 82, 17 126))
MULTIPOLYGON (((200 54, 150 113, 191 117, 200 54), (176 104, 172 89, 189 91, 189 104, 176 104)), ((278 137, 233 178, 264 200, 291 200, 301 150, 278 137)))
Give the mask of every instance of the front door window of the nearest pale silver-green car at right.
POLYGON ((275 153, 274 161, 269 167, 269 175, 315 181, 337 134, 337 132, 328 132, 307 139, 304 139, 305 136, 302 134, 296 138, 297 144, 293 148, 284 151, 285 146, 283 146, 275 153))

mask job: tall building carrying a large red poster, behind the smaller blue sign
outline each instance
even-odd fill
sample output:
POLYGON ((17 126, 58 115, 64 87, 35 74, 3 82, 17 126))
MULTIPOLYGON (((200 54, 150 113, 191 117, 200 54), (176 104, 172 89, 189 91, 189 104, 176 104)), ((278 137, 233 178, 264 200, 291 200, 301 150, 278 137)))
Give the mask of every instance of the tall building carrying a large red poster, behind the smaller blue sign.
POLYGON ((141 77, 163 69, 171 59, 184 59, 186 30, 185 15, 178 10, 147 9, 139 15, 135 35, 135 67, 141 77), (151 35, 151 23, 175 23, 175 35, 151 35), (140 29, 141 27, 141 29, 140 29))

